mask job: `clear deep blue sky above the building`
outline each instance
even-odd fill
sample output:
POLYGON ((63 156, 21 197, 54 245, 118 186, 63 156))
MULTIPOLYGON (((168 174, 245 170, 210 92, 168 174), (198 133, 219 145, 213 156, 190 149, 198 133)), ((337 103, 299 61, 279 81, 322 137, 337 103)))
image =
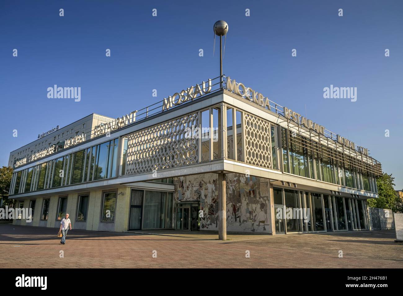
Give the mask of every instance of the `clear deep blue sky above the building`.
POLYGON ((403 1, 2 0, 0 165, 56 125, 121 116, 218 76, 219 19, 225 75, 369 148, 403 188, 403 1), (81 87, 81 101, 48 99, 54 84, 81 87), (331 84, 357 87, 357 101, 324 99, 331 84))

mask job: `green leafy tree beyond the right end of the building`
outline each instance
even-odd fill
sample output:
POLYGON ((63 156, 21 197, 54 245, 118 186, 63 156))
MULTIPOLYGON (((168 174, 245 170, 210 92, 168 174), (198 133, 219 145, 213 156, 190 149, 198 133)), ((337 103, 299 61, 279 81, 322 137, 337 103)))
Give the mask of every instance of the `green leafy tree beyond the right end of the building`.
POLYGON ((376 178, 376 185, 378 187, 377 199, 368 199, 367 203, 369 207, 376 207, 380 209, 391 209, 394 213, 400 212, 401 201, 399 201, 396 191, 393 188, 395 180, 392 174, 383 173, 382 176, 376 178))

